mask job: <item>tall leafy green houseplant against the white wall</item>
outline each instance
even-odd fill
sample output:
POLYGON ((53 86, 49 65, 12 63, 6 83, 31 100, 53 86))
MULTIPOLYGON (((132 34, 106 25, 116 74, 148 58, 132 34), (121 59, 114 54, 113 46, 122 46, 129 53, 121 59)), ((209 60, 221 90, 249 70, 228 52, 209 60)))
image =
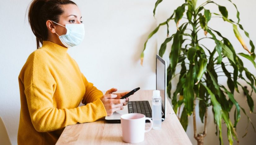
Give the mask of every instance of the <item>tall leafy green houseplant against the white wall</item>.
MULTIPOLYGON (((227 1, 232 3, 231 0, 227 1)), ((161 2, 162 0, 157 0, 153 10, 154 15, 158 4, 161 2)), ((158 31, 159 27, 167 25, 167 38, 161 44, 159 50, 160 56, 163 56, 165 53, 166 44, 173 39, 173 44, 170 48, 170 65, 167 69, 167 93, 169 97, 171 96, 170 90, 173 85, 171 80, 179 74, 179 81, 176 84, 177 89, 171 97, 173 109, 176 114, 179 110, 177 116, 185 130, 188 126, 188 116, 193 115, 194 138, 197 140, 198 144, 203 144, 203 139, 206 135, 209 106, 213 107, 212 112, 214 114, 214 122, 217 125, 216 128, 219 132, 220 143, 223 144, 222 121, 224 121, 227 126, 227 137, 229 143, 233 144, 232 137, 239 142, 236 135, 236 125, 240 119, 241 110, 244 113, 245 110, 234 98, 234 92, 236 91, 239 93, 238 87, 243 89, 250 112, 253 112, 254 102, 252 99, 252 93, 256 92, 256 78, 254 74, 250 73, 248 69, 245 68, 240 57, 245 57, 250 60, 254 68, 256 68, 254 61, 254 44, 250 40, 251 49, 249 50, 238 31, 239 27, 249 38, 248 32, 246 32, 239 23, 240 13, 234 3, 232 4, 237 10, 236 17, 238 19, 236 22, 228 18, 228 11, 225 6, 218 5, 214 0, 207 0, 200 6, 196 5, 197 0, 185 0, 184 2, 185 3, 183 5, 174 10, 174 13, 170 18, 165 22, 160 23, 148 36, 148 39, 150 39, 152 35, 158 31), (210 3, 218 7, 219 13, 211 13, 211 10, 205 9, 205 6, 210 3), (211 20, 212 15, 214 15, 214 17, 219 17, 232 25, 234 34, 242 44, 241 48, 246 50, 246 53, 237 54, 227 38, 217 30, 208 26, 208 22, 211 20), (181 19, 185 19, 185 22, 182 24, 179 23, 181 19), (175 21, 177 31, 168 37, 168 23, 170 20, 175 21), (198 38, 198 33, 204 33, 205 37, 198 38), (211 48, 205 47, 205 45, 201 43, 201 40, 206 38, 214 41, 215 45, 211 48), (181 66, 180 70, 177 69, 179 65, 181 66), (227 69, 226 66, 232 67, 232 69, 227 69), (245 73, 245 75, 243 73, 245 73), (224 84, 218 83, 218 78, 223 76, 227 77, 227 87, 224 84), (252 88, 252 91, 248 92, 246 87, 237 81, 238 78, 244 80, 252 88), (205 123, 204 132, 202 133, 196 133, 196 99, 199 100, 199 116, 201 118, 201 122, 205 123), (181 116, 179 117, 180 107, 182 105, 184 105, 184 108, 181 116), (233 106, 236 107, 234 111, 234 123, 232 123, 229 118, 231 108, 233 106)), ((144 44, 143 52, 146 48, 147 41, 144 44)), ((143 52, 141 53, 141 64, 143 63, 143 52)), ((247 118, 249 119, 248 116, 247 118)))

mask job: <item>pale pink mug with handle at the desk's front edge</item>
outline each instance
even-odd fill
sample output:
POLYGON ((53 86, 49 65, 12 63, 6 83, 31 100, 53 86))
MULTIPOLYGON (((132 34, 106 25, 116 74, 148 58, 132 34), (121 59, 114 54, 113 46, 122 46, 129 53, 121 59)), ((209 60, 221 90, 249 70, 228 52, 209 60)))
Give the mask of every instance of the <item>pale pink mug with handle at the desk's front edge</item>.
POLYGON ((152 129, 152 120, 143 114, 130 113, 121 116, 121 127, 123 141, 126 143, 143 142, 145 132, 152 129), (145 130, 145 121, 149 120, 151 125, 145 130))

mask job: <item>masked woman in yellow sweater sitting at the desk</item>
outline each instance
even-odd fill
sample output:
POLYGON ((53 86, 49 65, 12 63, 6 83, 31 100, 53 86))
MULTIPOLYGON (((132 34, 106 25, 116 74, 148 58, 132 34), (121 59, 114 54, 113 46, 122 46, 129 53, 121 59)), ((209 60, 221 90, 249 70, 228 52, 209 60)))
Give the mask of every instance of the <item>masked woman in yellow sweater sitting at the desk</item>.
POLYGON ((38 49, 19 75, 18 144, 55 144, 65 126, 96 121, 127 105, 128 98, 119 98, 128 92, 113 94, 112 88, 103 95, 68 55, 84 37, 81 19, 70 0, 32 1, 29 23, 38 49), (78 107, 81 101, 86 105, 78 107))

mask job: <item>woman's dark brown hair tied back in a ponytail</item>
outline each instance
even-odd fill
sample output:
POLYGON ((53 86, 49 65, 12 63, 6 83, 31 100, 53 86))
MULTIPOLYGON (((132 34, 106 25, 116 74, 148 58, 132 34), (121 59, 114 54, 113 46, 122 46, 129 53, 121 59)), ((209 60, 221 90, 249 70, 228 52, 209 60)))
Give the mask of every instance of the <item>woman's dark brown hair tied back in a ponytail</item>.
POLYGON ((39 43, 43 43, 48 38, 48 29, 46 21, 52 20, 56 23, 59 22, 60 15, 64 10, 61 5, 76 3, 70 0, 33 0, 29 7, 29 24, 36 36, 37 49, 40 48, 39 43))

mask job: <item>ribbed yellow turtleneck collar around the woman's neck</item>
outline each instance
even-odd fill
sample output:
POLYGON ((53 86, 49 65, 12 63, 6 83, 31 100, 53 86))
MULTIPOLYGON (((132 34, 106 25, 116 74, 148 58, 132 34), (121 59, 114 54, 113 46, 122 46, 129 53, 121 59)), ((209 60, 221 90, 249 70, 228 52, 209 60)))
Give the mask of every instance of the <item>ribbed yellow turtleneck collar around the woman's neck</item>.
POLYGON ((68 48, 62 47, 50 41, 43 41, 42 49, 46 49, 59 57, 65 57, 68 51, 68 48))

